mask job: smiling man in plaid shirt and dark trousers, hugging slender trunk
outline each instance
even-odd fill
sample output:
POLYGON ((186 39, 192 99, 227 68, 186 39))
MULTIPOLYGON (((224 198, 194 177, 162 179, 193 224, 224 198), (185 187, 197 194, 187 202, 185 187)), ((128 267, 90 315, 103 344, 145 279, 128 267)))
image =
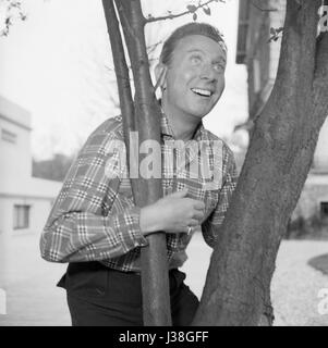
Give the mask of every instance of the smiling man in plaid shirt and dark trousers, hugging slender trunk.
POLYGON ((139 253, 157 231, 167 233, 172 323, 191 324, 198 299, 179 268, 197 228, 215 246, 236 182, 231 150, 202 123, 224 89, 226 62, 226 45, 207 24, 186 24, 165 42, 156 66, 163 198, 154 204, 135 207, 130 179, 108 175, 118 160, 111 144, 123 140, 121 117, 101 124, 80 151, 40 240, 42 258, 70 262, 59 286, 73 325, 143 325, 139 253), (172 160, 177 141, 193 146, 177 147, 172 160))

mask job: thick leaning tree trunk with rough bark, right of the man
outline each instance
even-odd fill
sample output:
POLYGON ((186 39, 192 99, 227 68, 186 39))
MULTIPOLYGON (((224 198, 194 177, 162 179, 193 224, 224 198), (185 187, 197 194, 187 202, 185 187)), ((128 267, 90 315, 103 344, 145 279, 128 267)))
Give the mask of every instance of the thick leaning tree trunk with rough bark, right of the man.
POLYGON ((220 231, 193 325, 271 325, 270 282, 328 113, 320 0, 287 1, 276 84, 220 231))

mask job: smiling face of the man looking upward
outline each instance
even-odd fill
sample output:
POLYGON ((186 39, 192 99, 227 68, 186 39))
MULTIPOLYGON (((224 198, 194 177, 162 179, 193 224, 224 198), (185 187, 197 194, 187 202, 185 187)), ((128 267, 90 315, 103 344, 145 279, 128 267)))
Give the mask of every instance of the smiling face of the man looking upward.
POLYGON ((202 119, 215 107, 224 89, 226 53, 203 35, 180 39, 167 67, 165 112, 174 117, 202 119))

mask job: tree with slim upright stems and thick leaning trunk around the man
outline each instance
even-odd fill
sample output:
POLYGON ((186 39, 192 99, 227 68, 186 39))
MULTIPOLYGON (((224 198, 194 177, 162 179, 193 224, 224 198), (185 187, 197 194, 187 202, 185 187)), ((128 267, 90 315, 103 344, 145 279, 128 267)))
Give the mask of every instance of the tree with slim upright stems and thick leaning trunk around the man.
MULTIPOLYGON (((138 130, 139 141, 159 139, 160 110, 149 75, 144 27, 168 16, 144 17, 139 0, 102 0, 102 3, 125 134, 138 130), (132 62, 134 98, 117 13, 132 62)), ((287 1, 276 84, 255 121, 239 184, 211 256, 194 325, 272 323, 270 282, 278 248, 328 113, 328 36, 317 35, 321 4, 321 0, 287 1)), ((198 5, 191 5, 187 11, 195 13, 198 5)), ((145 206, 160 197, 158 181, 135 179, 132 185, 137 204, 145 206)), ((144 293, 145 323, 170 324, 168 278, 162 278, 167 272, 165 234, 150 236, 149 244, 142 252, 144 287, 145 278, 151 279, 144 293), (149 268, 149 259, 156 260, 155 268, 149 268), (158 319, 155 312, 162 315, 158 319)))

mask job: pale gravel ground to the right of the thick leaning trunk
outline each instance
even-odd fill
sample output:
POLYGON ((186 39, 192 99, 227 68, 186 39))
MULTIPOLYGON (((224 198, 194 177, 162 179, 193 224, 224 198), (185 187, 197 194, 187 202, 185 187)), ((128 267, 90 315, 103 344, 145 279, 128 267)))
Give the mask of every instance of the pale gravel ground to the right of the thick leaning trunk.
POLYGON ((328 241, 282 243, 271 284, 276 325, 328 326, 328 276, 307 264, 313 257, 325 253, 328 241), (318 310, 323 301, 319 293, 327 295, 325 315, 318 310))

